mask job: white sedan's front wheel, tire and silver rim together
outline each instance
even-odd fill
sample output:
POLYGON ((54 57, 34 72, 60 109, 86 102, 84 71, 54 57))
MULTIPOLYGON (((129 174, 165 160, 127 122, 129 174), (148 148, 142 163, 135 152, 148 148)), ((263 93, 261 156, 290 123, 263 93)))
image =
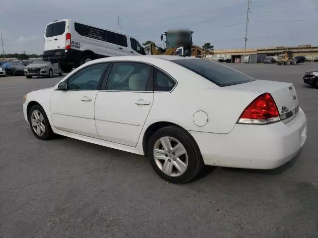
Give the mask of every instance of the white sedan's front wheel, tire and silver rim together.
POLYGON ((36 138, 49 140, 54 135, 49 119, 39 105, 34 105, 28 115, 31 130, 36 138))

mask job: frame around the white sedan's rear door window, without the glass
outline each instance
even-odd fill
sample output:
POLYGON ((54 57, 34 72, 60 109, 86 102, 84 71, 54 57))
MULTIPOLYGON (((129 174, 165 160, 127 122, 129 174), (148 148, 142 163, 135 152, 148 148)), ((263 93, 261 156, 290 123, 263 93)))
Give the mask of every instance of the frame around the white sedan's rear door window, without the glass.
MULTIPOLYGON (((112 65, 111 65, 111 68, 109 69, 109 72, 107 74, 107 78, 104 79, 105 80, 105 83, 103 83, 102 85, 102 88, 101 92, 130 92, 130 93, 140 93, 140 92, 144 92, 144 93, 154 93, 154 65, 151 64, 151 63, 147 63, 147 62, 142 62, 142 61, 130 61, 130 60, 114 60, 112 61, 112 65), (148 91, 133 91, 133 90, 107 90, 106 89, 106 86, 107 86, 107 82, 108 82, 108 78, 109 78, 109 75, 110 75, 110 72, 111 72, 111 69, 113 68, 113 65, 116 63, 116 62, 120 62, 120 63, 141 63, 141 64, 145 64, 145 65, 149 65, 151 67, 151 70, 150 70, 150 73, 149 73, 149 77, 148 77, 148 81, 147 81, 147 85, 146 87, 149 88, 148 91)), ((146 89, 147 89, 146 88, 146 89)))

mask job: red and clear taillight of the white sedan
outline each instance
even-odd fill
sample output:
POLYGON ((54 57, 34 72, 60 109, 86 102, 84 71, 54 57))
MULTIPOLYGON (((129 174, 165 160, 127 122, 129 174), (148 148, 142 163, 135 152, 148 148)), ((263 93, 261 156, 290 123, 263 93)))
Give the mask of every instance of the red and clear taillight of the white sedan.
POLYGON ((279 120, 279 113, 272 95, 264 93, 245 108, 238 123, 268 124, 279 120))

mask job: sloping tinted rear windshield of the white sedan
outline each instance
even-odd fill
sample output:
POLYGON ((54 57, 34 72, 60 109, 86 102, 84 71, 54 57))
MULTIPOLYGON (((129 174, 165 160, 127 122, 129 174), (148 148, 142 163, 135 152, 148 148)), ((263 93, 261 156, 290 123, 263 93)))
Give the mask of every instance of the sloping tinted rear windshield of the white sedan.
POLYGON ((200 59, 171 60, 217 84, 220 87, 254 81, 255 79, 221 63, 200 59))

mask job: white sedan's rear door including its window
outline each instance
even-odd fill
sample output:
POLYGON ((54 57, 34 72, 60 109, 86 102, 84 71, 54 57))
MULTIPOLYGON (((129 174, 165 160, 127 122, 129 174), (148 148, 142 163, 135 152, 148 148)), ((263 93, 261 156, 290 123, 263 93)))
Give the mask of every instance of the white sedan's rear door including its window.
POLYGON ((136 146, 153 105, 153 66, 114 62, 105 90, 97 93, 95 123, 101 139, 136 146))

